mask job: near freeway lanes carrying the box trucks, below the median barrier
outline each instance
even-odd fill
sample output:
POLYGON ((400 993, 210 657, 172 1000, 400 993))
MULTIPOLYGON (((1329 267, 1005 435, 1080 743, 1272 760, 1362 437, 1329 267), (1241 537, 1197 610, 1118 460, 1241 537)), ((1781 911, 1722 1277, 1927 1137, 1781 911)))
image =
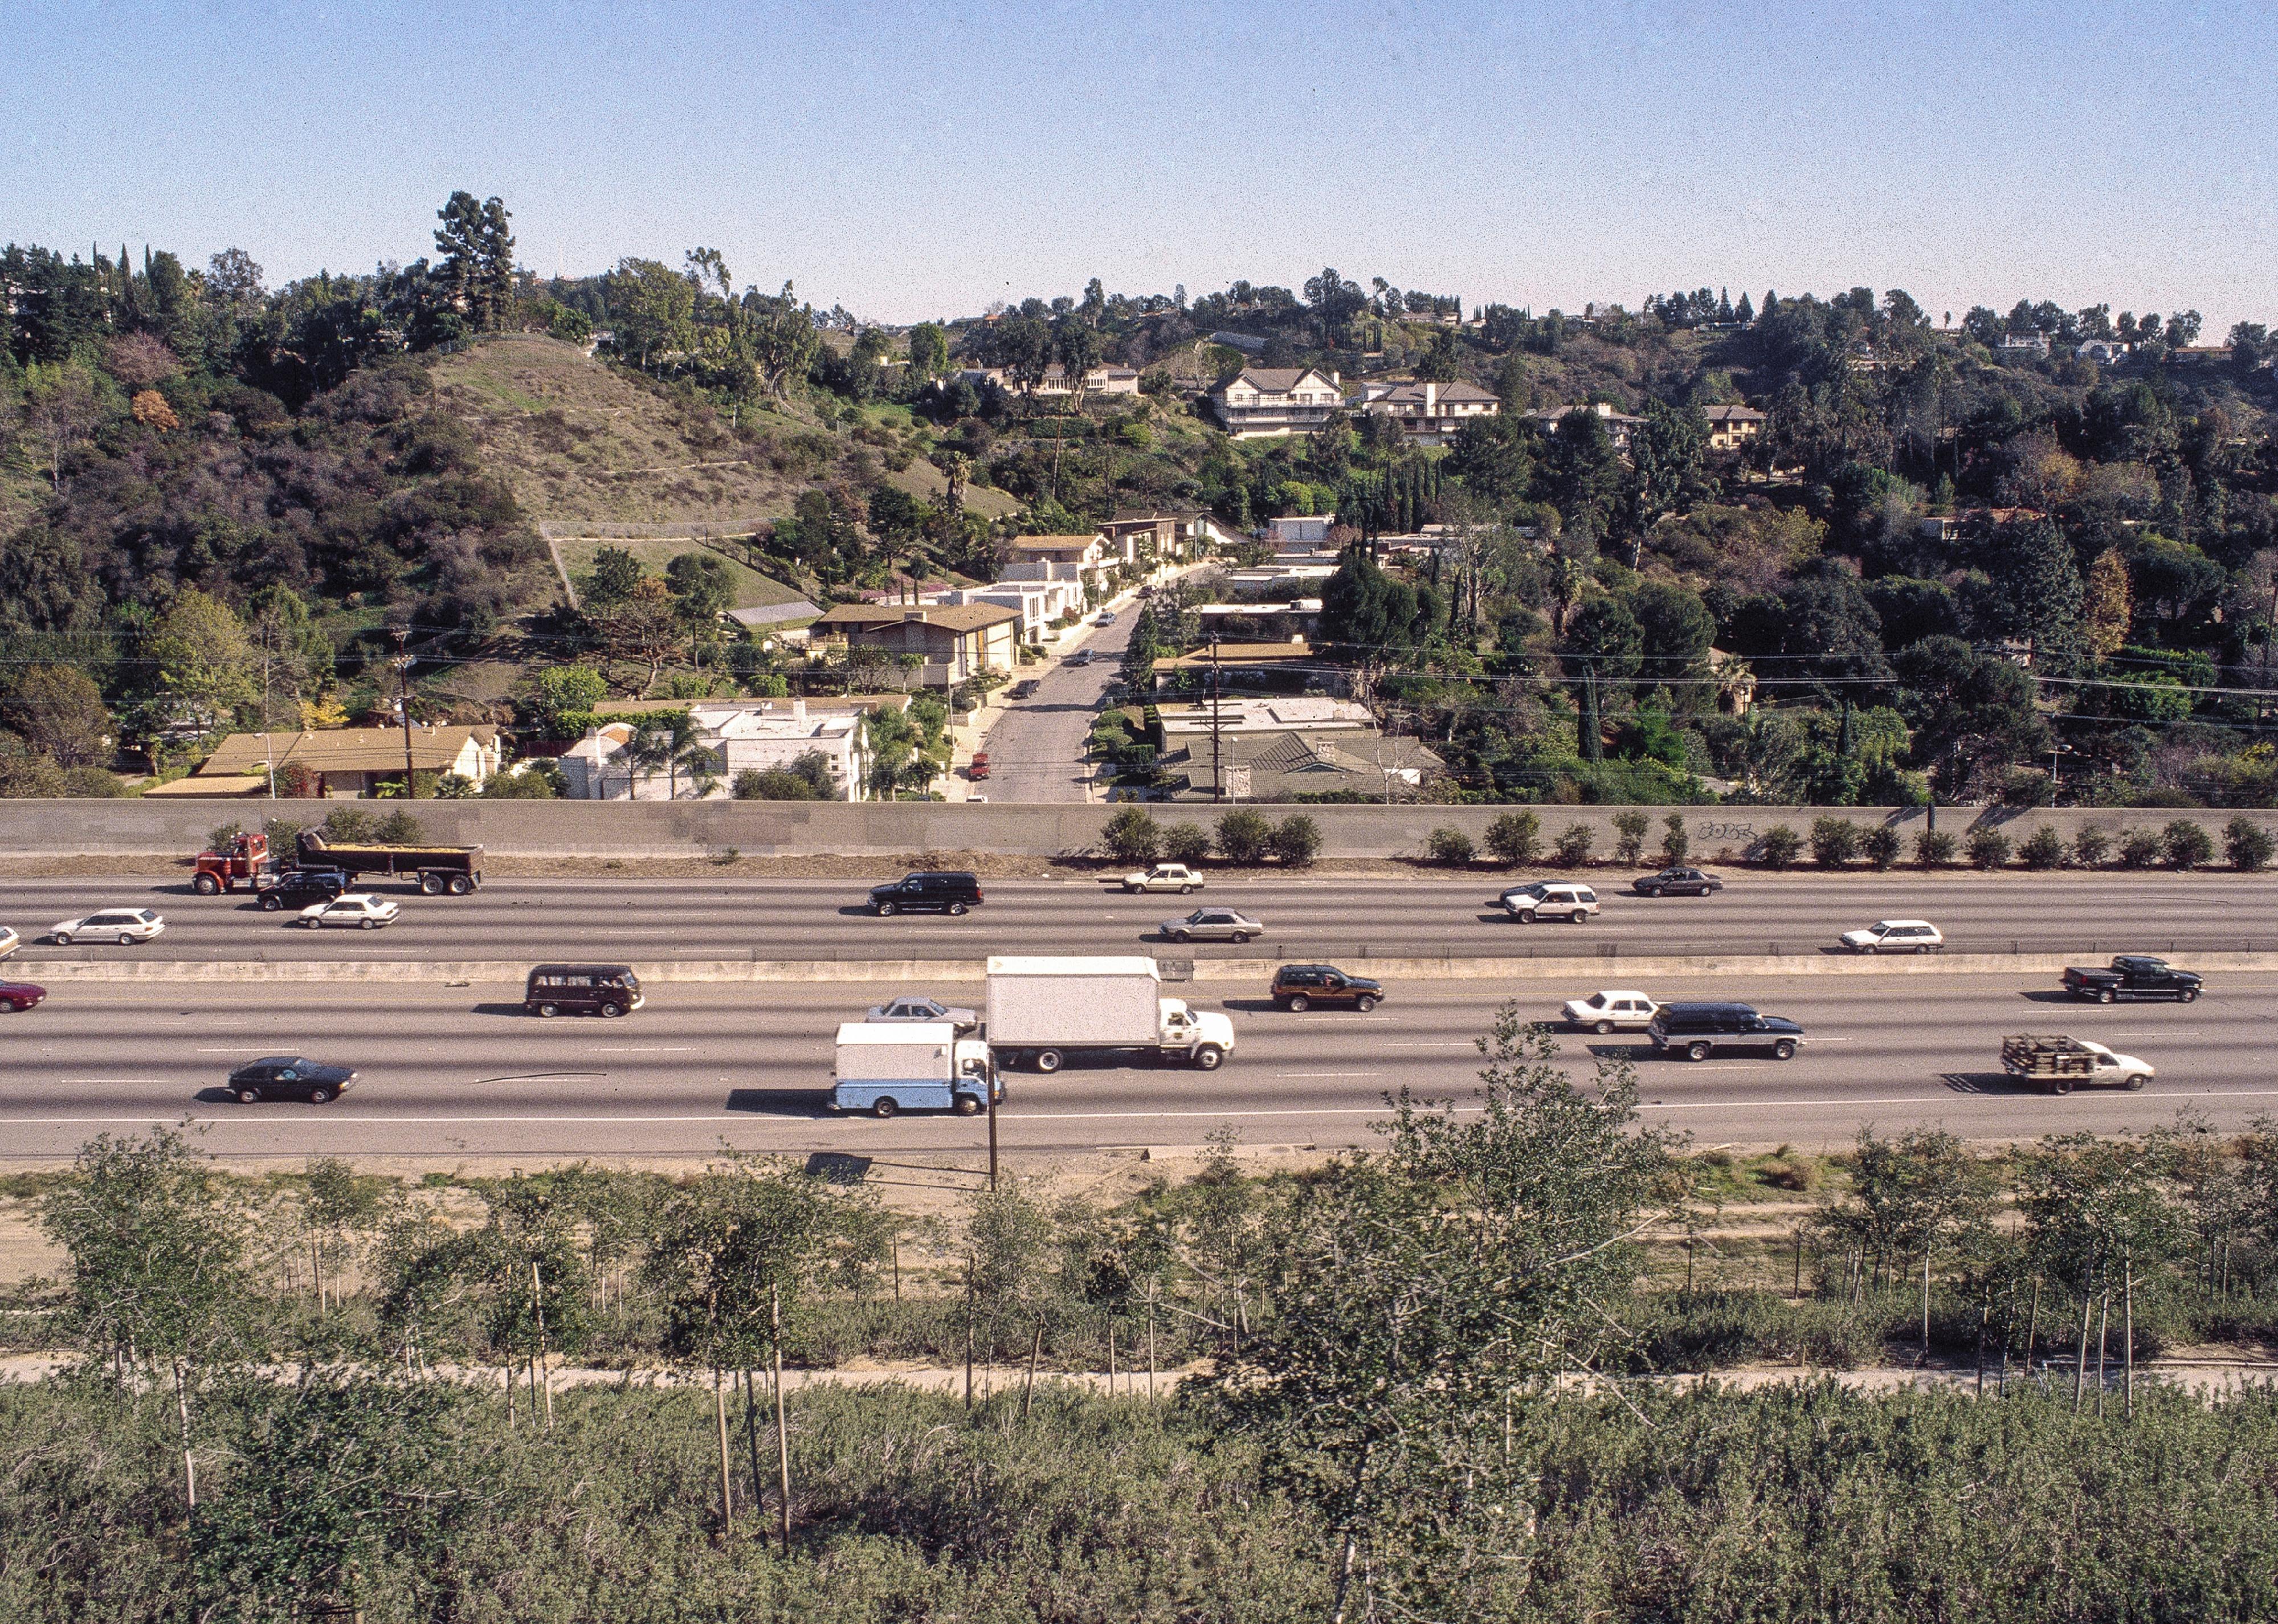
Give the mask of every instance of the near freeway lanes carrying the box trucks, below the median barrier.
MULTIPOLYGON (((469 1159, 686 1159, 722 1143, 765 1153, 977 1153, 970 1118, 879 1123, 825 1109, 831 1030, 886 989, 863 984, 672 984, 624 1020, 538 1023, 515 986, 73 984, 5 1016, 5 1159, 68 1157, 98 1132, 189 1121, 228 1159, 308 1155, 469 1159), (305 1052, 358 1066, 339 1102, 230 1102, 219 1082, 257 1055, 305 1052)), ((1529 1011, 1590 991, 1533 984, 1529 1011)), ((1697 1143, 1827 1148, 1859 1125, 1943 1125, 1980 1141, 2052 1130, 2114 1132, 2194 1112, 2214 1127, 2278 1114, 2267 1052, 2278 977, 2223 977, 2196 1004, 2073 1004, 2041 977, 1702 977, 1656 995, 1738 998, 1802 1020, 1793 1061, 1658 1059, 1642 1039, 1563 1036, 1581 1066, 1636 1055, 1647 1121, 1697 1143), (1998 1073, 2007 1032, 2073 1032, 2141 1055, 2160 1077, 2141 1093, 2041 1096, 1998 1073)), ((1394 984, 1371 1016, 1292 1016, 1262 998, 1196 998, 1226 1009, 1237 1048, 1226 1068, 1071 1064, 1007 1080, 1002 1146, 1066 1155, 1123 1146, 1191 1148, 1214 1127, 1251 1146, 1369 1139, 1385 1096, 1462 1096, 1474 1039, 1503 989, 1492 982, 1394 984)))

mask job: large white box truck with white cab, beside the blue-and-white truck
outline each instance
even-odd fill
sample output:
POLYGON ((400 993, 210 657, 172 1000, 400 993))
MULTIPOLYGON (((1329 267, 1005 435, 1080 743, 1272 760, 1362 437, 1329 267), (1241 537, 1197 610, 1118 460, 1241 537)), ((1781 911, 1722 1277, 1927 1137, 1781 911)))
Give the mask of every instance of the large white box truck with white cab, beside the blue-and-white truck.
POLYGON ((1216 1071, 1235 1023, 1162 995, 1153 959, 989 959, 989 1048, 1007 1066, 1059 1071, 1068 1055, 1148 1050, 1216 1071))

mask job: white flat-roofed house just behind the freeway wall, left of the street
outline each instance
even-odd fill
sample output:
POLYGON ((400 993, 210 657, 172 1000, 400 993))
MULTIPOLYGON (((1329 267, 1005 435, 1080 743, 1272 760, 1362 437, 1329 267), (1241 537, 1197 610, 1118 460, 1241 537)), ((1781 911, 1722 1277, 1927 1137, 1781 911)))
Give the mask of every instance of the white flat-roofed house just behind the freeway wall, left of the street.
POLYGON ((706 772, 645 768, 629 749, 638 722, 613 720, 560 754, 563 793, 590 802, 722 799, 738 772, 788 768, 806 754, 822 756, 831 799, 866 797, 870 768, 866 706, 809 708, 806 699, 690 704, 697 747, 711 752, 706 772))

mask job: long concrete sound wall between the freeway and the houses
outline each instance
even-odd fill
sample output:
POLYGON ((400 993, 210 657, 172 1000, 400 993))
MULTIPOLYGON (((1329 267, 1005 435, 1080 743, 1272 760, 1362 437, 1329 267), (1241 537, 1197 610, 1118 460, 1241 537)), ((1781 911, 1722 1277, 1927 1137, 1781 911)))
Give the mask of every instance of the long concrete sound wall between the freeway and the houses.
MULTIPOLYGON (((385 813, 392 802, 358 802, 360 811, 385 813)), ((271 811, 296 822, 319 822, 323 802, 146 802, 146 799, 0 799, 0 856, 187 856, 205 845, 223 822, 253 825, 271 811)), ((483 845, 501 856, 708 856, 734 847, 749 856, 802 856, 843 852, 847 856, 900 856, 918 852, 989 852, 1014 856, 1082 856, 1098 845, 1112 806, 964 806, 945 802, 838 804, 838 802, 415 802, 428 836, 453 845, 483 845)), ((1212 806, 1148 806, 1160 825, 1216 820, 1212 806)), ((1419 856, 1433 829, 1462 829, 1474 843, 1510 806, 1260 806, 1267 818, 1303 811, 1321 827, 1324 856, 1419 856)), ((1590 829, 1595 852, 1615 843, 1620 806, 1535 806, 1542 845, 1567 827, 1590 829)), ((1765 831, 1786 825, 1809 834, 1816 818, 1847 818, 1861 827, 1898 825, 1911 856, 1923 809, 1868 806, 1645 806, 1652 818, 1647 852, 1658 850, 1663 822, 1677 813, 1686 822, 1697 861, 1731 863, 1765 831)), ((2278 813, 2248 813, 2278 834, 2278 813)), ((2191 818, 2216 836, 2232 813, 2169 809, 1939 809, 1939 829, 1957 838, 1975 822, 1998 822, 2014 840, 2052 825, 2071 840, 2096 825, 2107 834, 2125 827, 2164 827, 2191 818)))

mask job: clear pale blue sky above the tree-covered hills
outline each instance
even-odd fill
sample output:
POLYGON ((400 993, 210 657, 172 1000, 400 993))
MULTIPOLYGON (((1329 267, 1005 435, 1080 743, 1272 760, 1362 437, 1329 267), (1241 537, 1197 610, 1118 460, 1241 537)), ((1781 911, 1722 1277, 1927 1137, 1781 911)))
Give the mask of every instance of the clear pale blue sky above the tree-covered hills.
POLYGON ((0 239, 727 253, 913 321, 1367 282, 1579 310, 1904 287, 2278 321, 2278 27, 2210 5, 14 0, 0 239))

